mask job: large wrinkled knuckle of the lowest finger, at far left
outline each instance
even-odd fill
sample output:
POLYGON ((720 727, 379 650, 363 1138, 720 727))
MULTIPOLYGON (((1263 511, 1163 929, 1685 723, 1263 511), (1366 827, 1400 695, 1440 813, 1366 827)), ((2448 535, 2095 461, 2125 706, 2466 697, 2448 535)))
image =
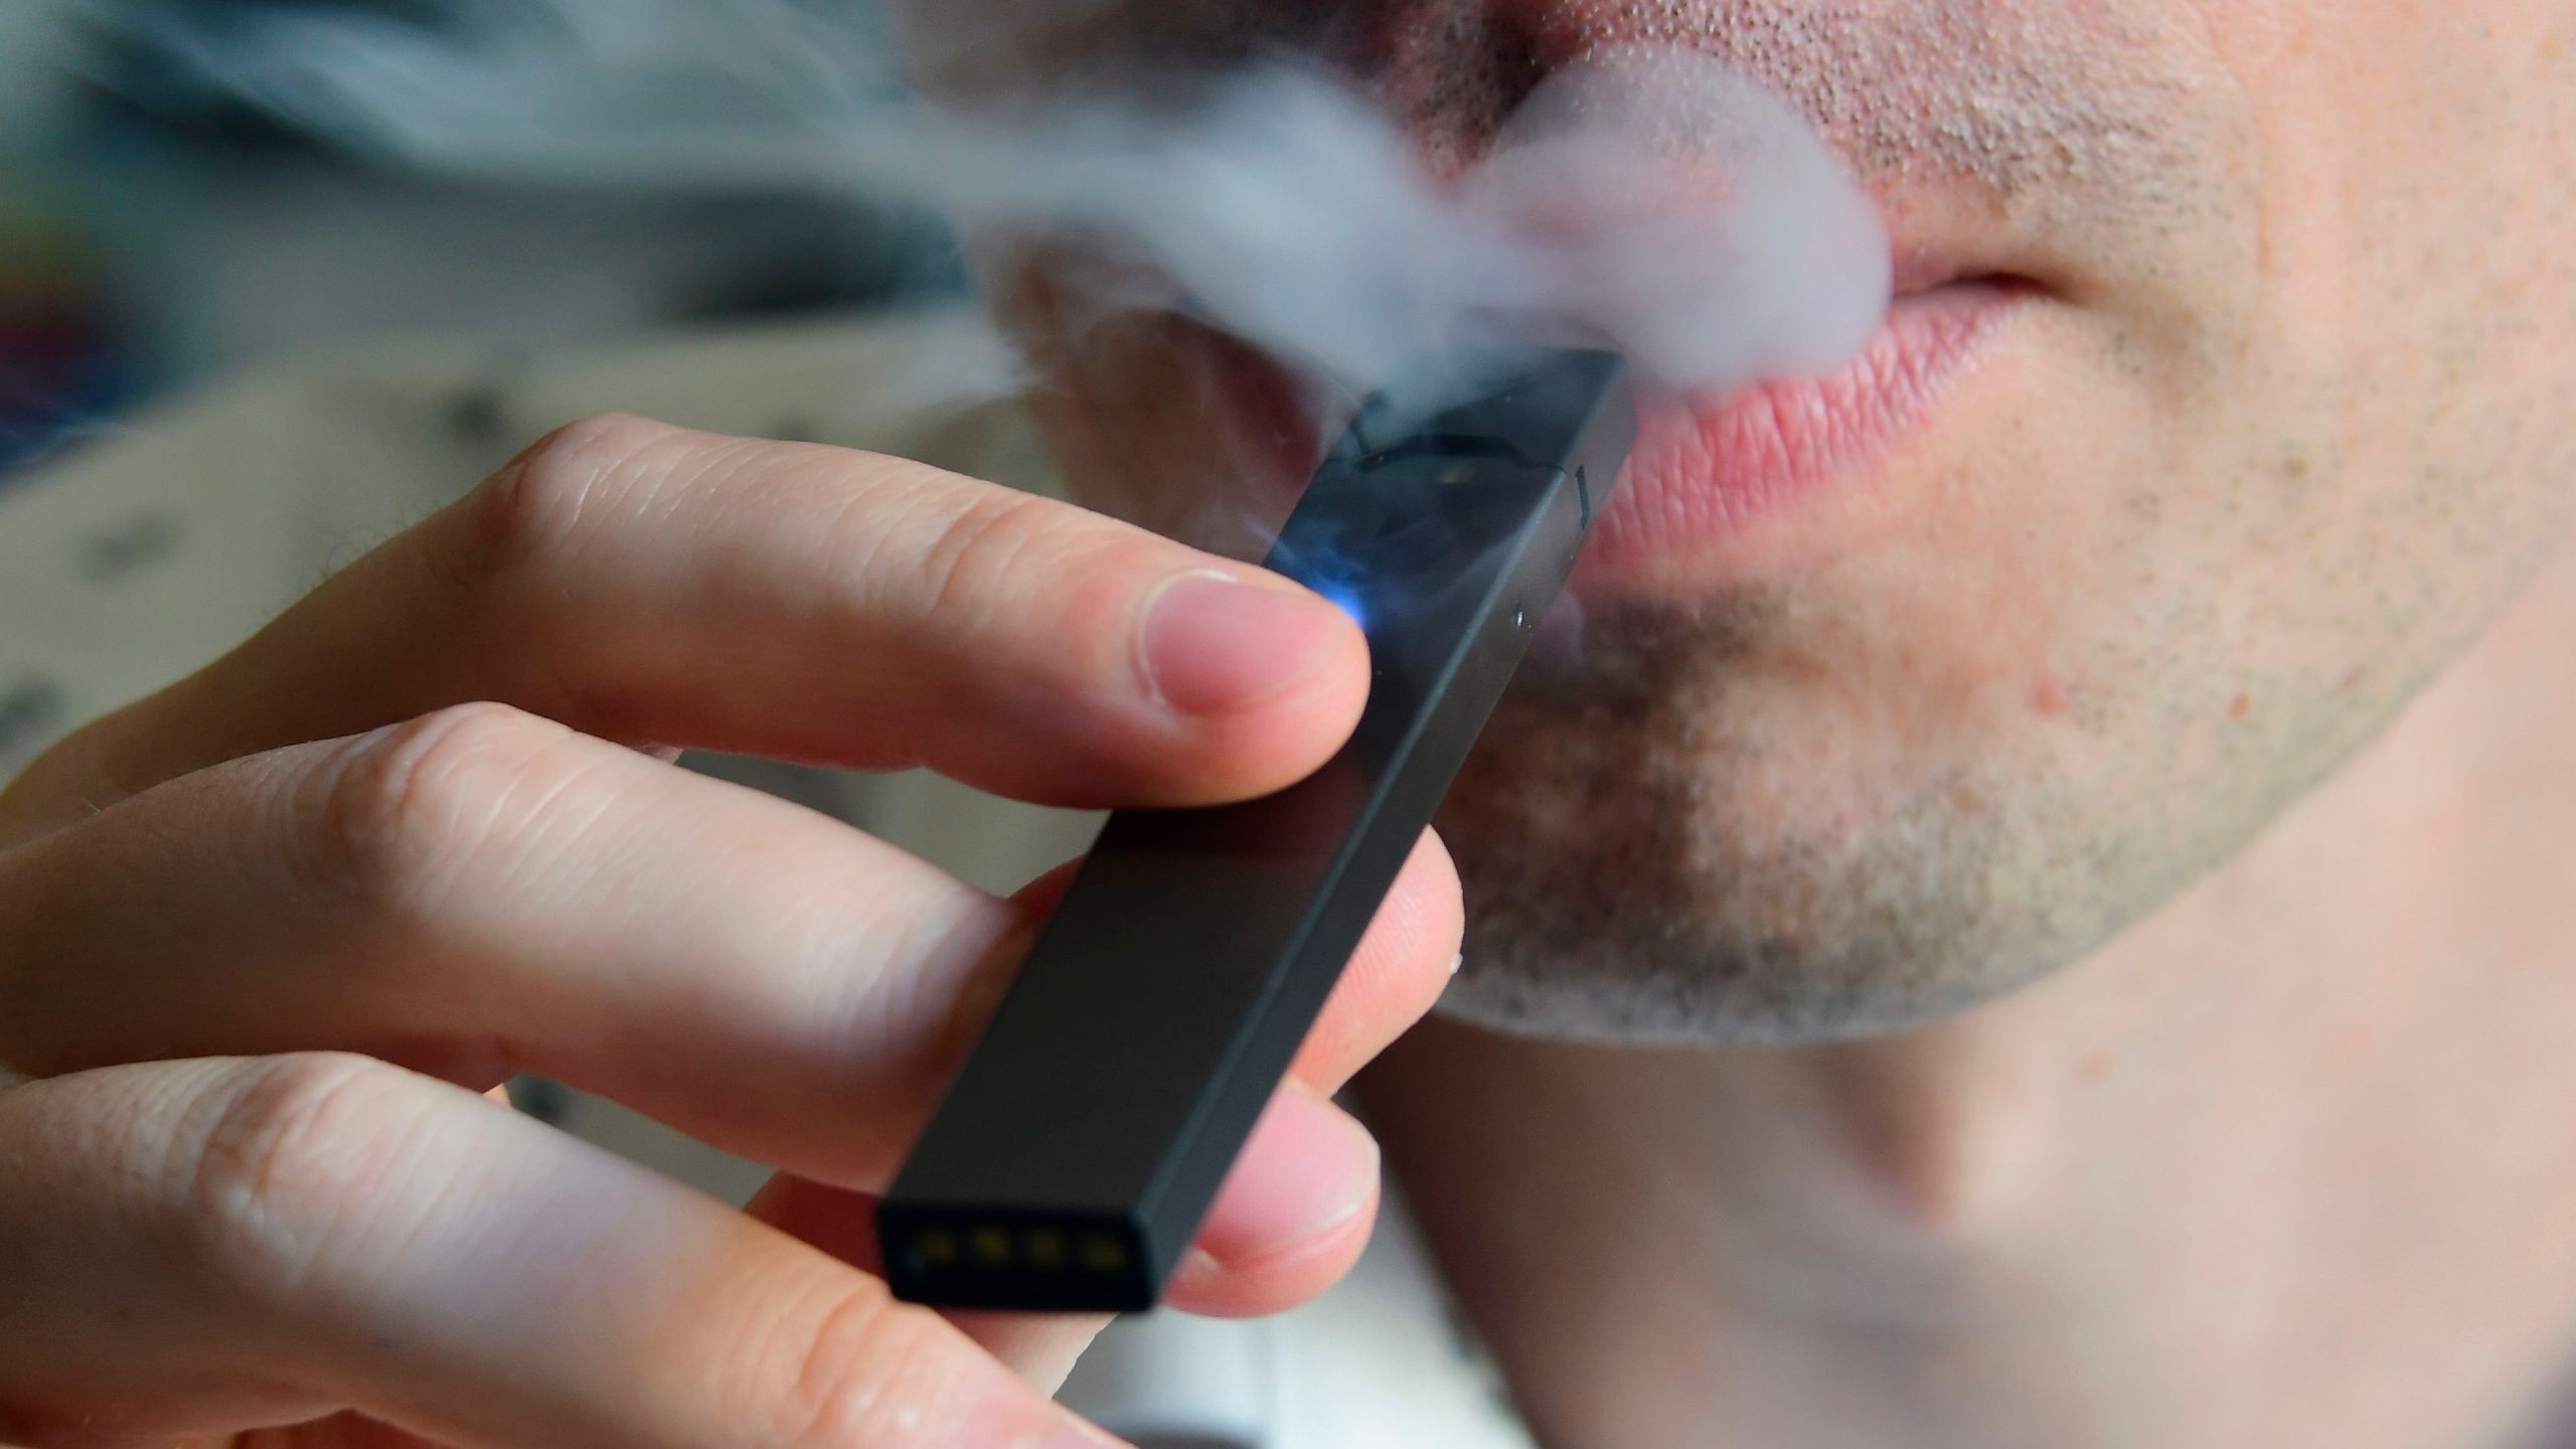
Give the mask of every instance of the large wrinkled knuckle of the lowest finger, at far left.
POLYGON ((224 1292, 294 1294, 366 1217, 407 1085, 397 1067, 345 1052, 245 1065, 173 1152, 183 1269, 224 1292))

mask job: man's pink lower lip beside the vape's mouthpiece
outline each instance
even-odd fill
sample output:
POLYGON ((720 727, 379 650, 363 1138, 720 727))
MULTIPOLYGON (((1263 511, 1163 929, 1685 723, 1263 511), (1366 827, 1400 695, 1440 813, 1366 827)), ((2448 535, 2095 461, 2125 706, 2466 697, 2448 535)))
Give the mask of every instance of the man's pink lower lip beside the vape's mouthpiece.
MULTIPOLYGON (((1723 562, 1721 572, 1806 554, 1826 500, 1870 492, 1878 464, 1924 431, 1978 364, 1996 322, 2027 299, 2009 281, 1958 281, 1899 297, 1842 371, 1765 382, 1726 397, 1646 397, 1643 433, 1582 578, 1723 562)), ((1826 539, 1819 539, 1826 541, 1826 539)), ((1700 572, 1700 570, 1692 570, 1700 572)))

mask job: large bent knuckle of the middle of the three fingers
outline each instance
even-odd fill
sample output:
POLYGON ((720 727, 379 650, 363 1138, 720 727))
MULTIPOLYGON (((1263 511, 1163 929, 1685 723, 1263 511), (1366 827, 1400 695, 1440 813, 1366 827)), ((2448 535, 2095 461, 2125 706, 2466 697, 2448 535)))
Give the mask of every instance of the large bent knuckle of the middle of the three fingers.
POLYGON ((309 776, 304 879, 371 910, 435 913, 562 737, 507 704, 451 704, 350 743, 309 776))

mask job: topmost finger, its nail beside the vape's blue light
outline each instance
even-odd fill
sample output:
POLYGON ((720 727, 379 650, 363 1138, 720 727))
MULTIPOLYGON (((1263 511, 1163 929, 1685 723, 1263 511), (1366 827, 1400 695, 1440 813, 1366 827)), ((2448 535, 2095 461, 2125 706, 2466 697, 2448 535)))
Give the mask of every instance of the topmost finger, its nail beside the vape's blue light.
POLYGON ((1257 567, 902 459, 600 418, 31 773, 67 812, 497 699, 613 740, 1182 804, 1301 779, 1365 691, 1358 627, 1257 567))

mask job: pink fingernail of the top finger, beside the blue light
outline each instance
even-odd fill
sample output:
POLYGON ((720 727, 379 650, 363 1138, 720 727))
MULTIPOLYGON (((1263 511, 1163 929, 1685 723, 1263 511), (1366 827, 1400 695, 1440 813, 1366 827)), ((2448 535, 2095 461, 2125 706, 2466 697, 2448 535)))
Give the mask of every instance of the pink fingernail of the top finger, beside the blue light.
POLYGON ((1162 585, 1139 655, 1164 704, 1226 714, 1324 668, 1342 629, 1342 616, 1311 593, 1200 570, 1162 585))

